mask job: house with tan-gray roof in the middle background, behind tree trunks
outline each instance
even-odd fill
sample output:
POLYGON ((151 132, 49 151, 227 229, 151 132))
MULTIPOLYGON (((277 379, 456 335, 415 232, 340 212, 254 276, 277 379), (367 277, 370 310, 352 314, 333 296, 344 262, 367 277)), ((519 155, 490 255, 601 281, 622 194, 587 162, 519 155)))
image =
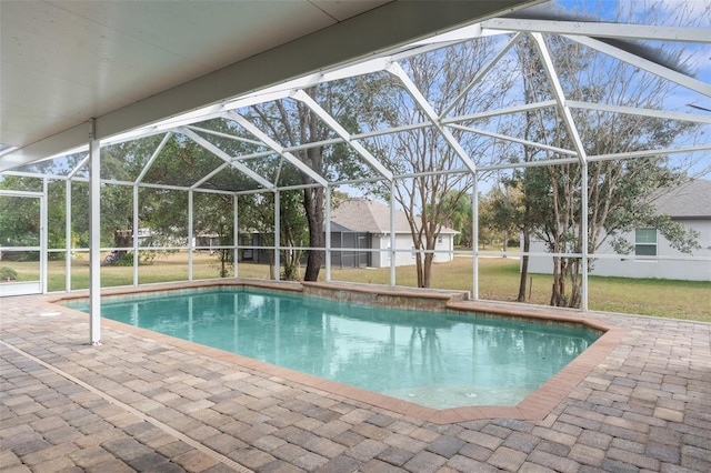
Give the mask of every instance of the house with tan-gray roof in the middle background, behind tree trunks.
MULTIPOLYGON (((414 264, 410 224, 402 211, 394 212, 395 265, 414 264)), ((434 261, 454 258, 454 235, 442 228, 434 261)), ((331 210, 331 264, 334 268, 388 268, 391 258, 390 208, 365 198, 347 199, 331 210)))

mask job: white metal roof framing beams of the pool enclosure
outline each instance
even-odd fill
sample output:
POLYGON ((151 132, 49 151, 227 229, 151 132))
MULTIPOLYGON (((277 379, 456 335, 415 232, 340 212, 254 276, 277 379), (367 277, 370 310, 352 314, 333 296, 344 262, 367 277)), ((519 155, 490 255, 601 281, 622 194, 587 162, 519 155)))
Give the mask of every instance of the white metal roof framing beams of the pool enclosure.
MULTIPOLYGON (((691 112, 679 110, 657 110, 657 109, 642 109, 634 107, 625 107, 611 103, 594 103, 583 102, 580 100, 572 100, 567 97, 561 82, 558 77, 554 60, 550 56, 549 48, 545 43, 545 36, 557 34, 562 36, 571 41, 579 42, 588 48, 600 51, 611 58, 615 58, 622 62, 629 63, 632 67, 649 71, 673 83, 680 84, 689 91, 695 92, 701 98, 711 98, 711 85, 699 79, 695 79, 689 73, 672 70, 663 61, 653 61, 649 58, 642 58, 634 52, 625 51, 618 46, 612 46, 605 40, 612 39, 624 44, 624 41, 639 41, 640 39, 649 39, 654 41, 665 42, 682 42, 682 43, 695 43, 695 44, 710 44, 711 34, 708 30, 699 28, 679 28, 679 27, 660 27, 660 26, 644 26, 644 24, 619 24, 619 23, 605 23, 594 21, 565 21, 565 20, 537 20, 527 18, 494 18, 481 21, 475 24, 470 24, 455 31, 449 31, 440 36, 435 36, 425 40, 417 41, 407 47, 395 48, 394 50, 375 54, 371 58, 360 59, 350 64, 339 66, 331 69, 324 69, 311 74, 307 74, 301 78, 284 81, 282 83, 264 88, 254 92, 246 93, 241 97, 229 98, 220 103, 207 105, 202 109, 193 110, 189 113, 180 114, 174 118, 163 120, 148 127, 130 130, 126 133, 120 133, 113 137, 109 137, 102 140, 102 145, 108 147, 116 143, 121 143, 139 138, 150 137, 154 134, 163 134, 164 138, 158 149, 148 159, 146 168, 141 171, 140 175, 136 179, 136 183, 149 184, 144 182, 148 169, 154 162, 161 150, 166 145, 166 142, 171 135, 180 134, 189 140, 196 142, 210 153, 218 157, 223 161, 223 164, 213 169, 209 174, 200 178, 197 182, 190 185, 192 189, 199 189, 209 179, 219 174, 226 169, 236 169, 247 175, 250 180, 254 181, 260 189, 267 191, 273 191, 282 187, 277 182, 271 182, 263 175, 252 170, 247 163, 251 159, 263 158, 269 155, 278 155, 284 162, 296 167, 299 172, 306 174, 313 184, 320 187, 338 185, 339 182, 329 182, 326 175, 321 175, 316 170, 309 168, 303 163, 297 154, 298 151, 307 150, 313 147, 328 147, 337 143, 344 143, 357 153, 362 163, 370 169, 374 170, 378 178, 384 181, 391 181, 393 178, 398 178, 392 169, 381 162, 365 145, 364 140, 382 137, 388 134, 394 134, 404 132, 408 130, 414 130, 418 128, 432 128, 440 134, 443 141, 451 148, 451 150, 459 157, 467 172, 474 173, 478 169, 509 169, 509 163, 479 164, 469 154, 465 147, 460 143, 452 134, 452 130, 460 132, 473 133, 481 137, 488 137, 493 141, 518 143, 523 147, 533 147, 547 152, 551 158, 551 162, 569 162, 570 158, 578 160, 578 162, 607 160, 607 159, 634 159, 639 157, 653 155, 653 154, 668 154, 674 152, 704 152, 709 150, 708 143, 694 143, 693 145, 675 147, 671 149, 661 150, 648 150, 648 151, 633 151, 615 153, 613 155, 594 155, 589 153, 579 134, 578 127, 575 124, 575 118, 573 111, 579 110, 594 110, 604 113, 623 113, 639 117, 660 118, 678 121, 688 121, 692 123, 699 123, 701 125, 711 124, 711 115, 705 113, 701 109, 693 110, 691 112), (439 113, 434 111, 432 104, 428 101, 424 93, 418 90, 412 78, 409 77, 407 69, 401 64, 402 61, 417 54, 428 53, 435 51, 439 48, 443 48, 451 44, 465 43, 468 41, 475 41, 479 38, 501 36, 504 41, 501 42, 499 51, 493 56, 492 60, 480 71, 475 79, 460 92, 460 97, 452 103, 448 104, 439 113), (507 38, 508 36, 508 38, 507 38), (453 110, 455 103, 474 85, 485 80, 487 73, 497 67, 497 64, 505 57, 507 53, 521 40, 524 36, 533 39, 533 43, 538 50, 538 53, 544 64, 547 77, 550 87, 553 91, 552 100, 543 100, 535 103, 519 103, 513 105, 507 105, 499 109, 480 110, 477 113, 461 115, 461 117, 448 117, 448 113, 453 110), (425 121, 415 123, 402 123, 389 129, 371 130, 367 132, 352 133, 347 128, 339 123, 339 121, 330 115, 321 104, 319 104, 309 93, 307 89, 319 85, 333 80, 356 78, 363 74, 372 73, 387 73, 395 77, 401 85, 408 91, 412 98, 413 103, 417 104, 427 118, 425 121), (337 138, 322 140, 311 143, 298 143, 288 144, 280 143, 276 137, 270 137, 264 130, 261 130, 254 122, 242 112, 251 105, 259 105, 276 100, 297 100, 306 104, 316 115, 319 117, 333 132, 337 138), (508 134, 504 131, 495 131, 484 129, 472 124, 475 121, 487 120, 494 117, 503 117, 509 114, 520 114, 527 111, 555 109, 558 111, 558 120, 564 124, 570 133, 571 149, 565 147, 554 145, 551 143, 540 143, 532 140, 527 140, 518 135, 508 134), (231 120, 238 123, 242 129, 248 131, 251 137, 240 137, 238 134, 220 132, 210 130, 199 123, 206 120, 231 120), (230 138, 233 140, 242 141, 253 145, 262 147, 264 151, 257 151, 241 155, 231 155, 218 145, 210 142, 206 135, 213 134, 222 138, 230 138), (590 154, 590 155, 589 155, 590 154)), ((68 152, 86 152, 87 148, 80 148, 69 150, 68 152)), ((52 157, 48 157, 52 158, 52 157)), ((545 161, 545 160, 543 160, 545 161)), ((87 160, 82 160, 78 168, 87 165, 87 160)), ((539 164, 531 164, 539 165, 539 164)), ((461 172, 462 169, 457 169, 457 172, 461 172)), ((11 173, 11 172, 10 172, 11 173)), ((78 173, 78 169, 71 170, 68 178, 74 178, 78 173)), ((42 175, 38 173, 37 175, 42 175)), ((56 177, 54 177, 56 178, 56 177)), ((294 185, 287 184, 284 188, 293 189, 294 185)))

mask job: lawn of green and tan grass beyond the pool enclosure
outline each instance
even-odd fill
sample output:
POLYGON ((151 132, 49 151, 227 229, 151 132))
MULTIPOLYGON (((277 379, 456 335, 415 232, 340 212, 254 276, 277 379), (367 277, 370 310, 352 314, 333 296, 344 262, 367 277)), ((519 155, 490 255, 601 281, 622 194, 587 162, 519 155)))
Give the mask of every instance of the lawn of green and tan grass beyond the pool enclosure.
MULTIPOLYGON (((89 262, 84 259, 71 261, 71 289, 89 286, 89 262)), ((11 266, 18 279, 31 281, 38 278, 37 262, 0 262, 0 266, 11 266)), ((193 280, 213 279, 220 274, 217 256, 208 253, 193 255, 193 280)), ((448 263, 437 263, 432 272, 432 288, 472 290, 471 258, 455 258, 448 263)), ((269 279, 269 266, 263 264, 239 264, 242 278, 269 279)), ((321 271, 326 278, 326 270, 321 271)), ((349 281, 373 284, 389 284, 390 269, 338 269, 332 268, 333 281, 349 281)), ((160 256, 139 266, 139 283, 188 280, 188 255, 176 253, 160 256)), ((133 269, 130 266, 102 266, 101 285, 131 285, 133 269)), ((417 285, 414 265, 400 266, 395 271, 395 283, 403 286, 417 285)), ((545 305, 550 299, 552 278, 532 274, 527 281, 529 303, 545 305)), ((48 288, 50 292, 62 291, 66 285, 63 261, 49 262, 48 288)), ((503 258, 481 258, 479 260, 479 298, 494 301, 514 301, 519 288, 519 260, 503 258)), ((711 322, 711 282, 637 280, 624 278, 598 278, 589 280, 590 310, 634 313, 711 322)))

